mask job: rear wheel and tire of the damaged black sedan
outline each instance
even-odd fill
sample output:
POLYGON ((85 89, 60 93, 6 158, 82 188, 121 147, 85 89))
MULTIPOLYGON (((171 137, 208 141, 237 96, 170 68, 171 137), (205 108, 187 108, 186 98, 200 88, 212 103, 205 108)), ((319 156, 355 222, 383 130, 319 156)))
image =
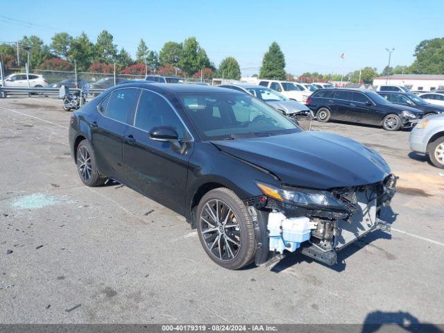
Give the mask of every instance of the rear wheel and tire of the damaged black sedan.
POLYGON ((107 178, 102 177, 97 170, 96 159, 91 144, 83 140, 78 144, 76 152, 78 176, 87 186, 103 185, 107 178))

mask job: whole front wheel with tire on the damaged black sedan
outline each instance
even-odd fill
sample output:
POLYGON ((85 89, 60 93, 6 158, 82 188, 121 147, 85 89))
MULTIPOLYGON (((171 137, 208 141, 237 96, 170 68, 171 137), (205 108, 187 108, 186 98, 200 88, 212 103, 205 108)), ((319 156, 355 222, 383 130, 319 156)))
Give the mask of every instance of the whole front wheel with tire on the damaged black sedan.
POLYGON ((219 266, 242 268, 255 259, 253 220, 230 189, 209 191, 197 208, 197 231, 207 255, 219 266))

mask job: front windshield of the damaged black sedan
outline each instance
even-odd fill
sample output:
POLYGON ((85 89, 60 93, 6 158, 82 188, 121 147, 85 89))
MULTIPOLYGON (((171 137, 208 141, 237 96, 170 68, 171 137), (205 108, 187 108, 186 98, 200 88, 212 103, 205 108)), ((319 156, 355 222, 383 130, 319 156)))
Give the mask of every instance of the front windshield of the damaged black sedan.
POLYGON ((179 94, 189 118, 205 140, 238 139, 300 132, 295 123, 248 94, 179 94))

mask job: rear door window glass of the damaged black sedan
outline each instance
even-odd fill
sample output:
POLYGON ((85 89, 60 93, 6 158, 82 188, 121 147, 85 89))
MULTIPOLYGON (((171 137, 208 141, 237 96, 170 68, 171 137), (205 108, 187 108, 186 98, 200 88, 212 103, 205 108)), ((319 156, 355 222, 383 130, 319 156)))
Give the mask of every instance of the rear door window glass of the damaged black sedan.
POLYGON ((120 121, 130 123, 131 114, 139 98, 140 90, 136 88, 117 89, 111 93, 105 116, 120 121))

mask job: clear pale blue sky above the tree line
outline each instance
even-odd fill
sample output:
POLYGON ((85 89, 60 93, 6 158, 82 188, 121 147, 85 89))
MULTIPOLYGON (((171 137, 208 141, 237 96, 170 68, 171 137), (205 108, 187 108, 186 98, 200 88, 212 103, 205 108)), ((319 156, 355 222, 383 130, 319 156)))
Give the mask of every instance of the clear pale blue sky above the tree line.
POLYGON ((366 66, 382 71, 386 48, 395 49, 392 66, 411 65, 420 41, 444 37, 442 0, 1 2, 0 42, 38 35, 49 44, 54 33, 82 31, 95 41, 105 29, 134 57, 141 38, 160 51, 165 42, 195 36, 214 65, 233 56, 246 76, 259 72, 272 42, 291 74, 346 74, 366 66))

